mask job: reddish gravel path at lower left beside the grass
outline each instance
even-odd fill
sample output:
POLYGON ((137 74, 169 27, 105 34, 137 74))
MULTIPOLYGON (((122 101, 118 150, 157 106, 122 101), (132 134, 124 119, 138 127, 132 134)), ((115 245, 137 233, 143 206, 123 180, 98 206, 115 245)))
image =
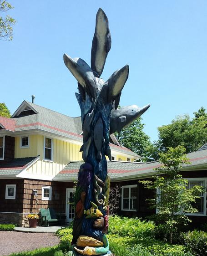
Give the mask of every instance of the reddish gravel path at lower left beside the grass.
POLYGON ((58 243, 59 238, 54 234, 0 231, 0 256, 55 246, 58 243))

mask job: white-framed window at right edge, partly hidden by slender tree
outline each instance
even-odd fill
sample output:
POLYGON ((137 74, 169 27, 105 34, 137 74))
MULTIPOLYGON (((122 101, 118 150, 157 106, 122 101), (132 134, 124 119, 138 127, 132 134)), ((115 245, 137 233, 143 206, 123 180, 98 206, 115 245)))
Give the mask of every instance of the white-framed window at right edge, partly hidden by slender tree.
MULTIPOLYGON (((187 188, 191 189, 194 186, 202 186, 204 187, 206 191, 206 178, 190 178, 188 179, 188 185, 187 188)), ((198 195, 199 198, 196 199, 196 202, 193 204, 193 207, 195 207, 198 211, 193 214, 187 214, 187 215, 204 215, 206 216, 206 193, 201 193, 198 195)))

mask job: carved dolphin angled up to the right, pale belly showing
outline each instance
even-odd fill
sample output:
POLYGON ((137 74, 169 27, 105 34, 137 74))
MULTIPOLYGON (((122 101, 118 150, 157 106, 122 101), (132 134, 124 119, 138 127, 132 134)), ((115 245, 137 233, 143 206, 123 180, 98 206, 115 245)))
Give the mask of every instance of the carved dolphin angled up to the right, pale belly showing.
POLYGON ((115 109, 118 108, 121 90, 129 76, 129 65, 116 70, 106 81, 108 87, 108 98, 115 101, 115 109))

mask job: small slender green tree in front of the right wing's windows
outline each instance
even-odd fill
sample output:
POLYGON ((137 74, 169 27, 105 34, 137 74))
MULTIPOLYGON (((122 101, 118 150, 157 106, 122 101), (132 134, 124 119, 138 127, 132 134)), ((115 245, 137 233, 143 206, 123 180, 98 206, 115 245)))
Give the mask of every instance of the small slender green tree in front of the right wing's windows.
POLYGON ((155 198, 150 200, 151 207, 157 208, 157 214, 153 218, 157 223, 165 224, 169 230, 169 241, 172 243, 173 233, 178 225, 187 225, 191 220, 186 213, 195 213, 193 207, 203 187, 194 186, 187 188, 188 180, 182 179, 178 172, 182 164, 190 164, 186 155, 186 149, 182 146, 168 148, 166 153, 159 153, 161 166, 155 170, 161 174, 153 177, 153 181, 140 181, 147 189, 156 190, 155 198))

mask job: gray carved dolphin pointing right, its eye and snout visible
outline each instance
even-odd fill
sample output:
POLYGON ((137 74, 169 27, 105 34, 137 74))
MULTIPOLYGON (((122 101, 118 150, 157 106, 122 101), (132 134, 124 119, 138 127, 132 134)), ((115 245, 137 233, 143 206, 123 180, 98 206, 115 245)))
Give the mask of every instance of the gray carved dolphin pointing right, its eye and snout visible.
POLYGON ((146 105, 142 108, 131 105, 117 110, 113 108, 111 110, 110 134, 115 132, 120 133, 121 129, 126 128, 136 118, 139 118, 149 107, 150 105, 146 105))

